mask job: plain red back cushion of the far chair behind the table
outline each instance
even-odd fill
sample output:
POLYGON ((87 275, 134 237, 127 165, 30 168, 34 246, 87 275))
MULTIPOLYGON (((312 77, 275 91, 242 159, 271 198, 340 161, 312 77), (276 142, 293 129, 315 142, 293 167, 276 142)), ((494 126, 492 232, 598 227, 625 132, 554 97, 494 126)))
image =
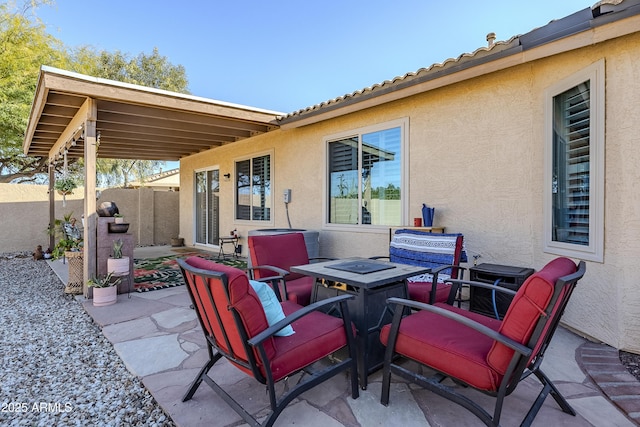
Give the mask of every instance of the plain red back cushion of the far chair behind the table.
MULTIPOLYGON (((249 254, 254 266, 273 265, 289 272, 292 265, 309 264, 307 246, 302 233, 249 236, 249 254)), ((257 270, 254 274, 258 279, 274 275, 269 270, 257 270)), ((299 273, 290 273, 286 279, 289 281, 300 277, 304 276, 299 273)))

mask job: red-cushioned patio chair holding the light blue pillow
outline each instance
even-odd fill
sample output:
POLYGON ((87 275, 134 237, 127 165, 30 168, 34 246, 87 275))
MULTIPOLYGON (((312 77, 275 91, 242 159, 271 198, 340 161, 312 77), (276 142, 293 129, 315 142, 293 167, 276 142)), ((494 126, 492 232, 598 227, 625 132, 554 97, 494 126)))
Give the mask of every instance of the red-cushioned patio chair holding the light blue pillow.
POLYGON ((286 318, 269 326, 258 294, 243 271, 199 257, 180 259, 178 264, 209 351, 209 361, 183 401, 190 400, 204 381, 249 425, 271 426, 296 396, 341 372, 349 372, 351 396, 358 397, 354 329, 347 307, 350 295, 307 307, 284 301, 280 305, 286 318), (319 310, 335 312, 340 317, 319 310), (292 335, 275 335, 287 325, 293 327, 292 335), (342 361, 315 363, 345 346, 348 357, 342 361), (262 424, 208 375, 222 358, 267 385, 271 413, 262 424), (312 364, 313 368, 309 369, 312 364), (295 386, 291 388, 289 384, 290 389, 287 391, 285 387, 285 391, 277 396, 276 383, 301 371, 305 374, 295 386))

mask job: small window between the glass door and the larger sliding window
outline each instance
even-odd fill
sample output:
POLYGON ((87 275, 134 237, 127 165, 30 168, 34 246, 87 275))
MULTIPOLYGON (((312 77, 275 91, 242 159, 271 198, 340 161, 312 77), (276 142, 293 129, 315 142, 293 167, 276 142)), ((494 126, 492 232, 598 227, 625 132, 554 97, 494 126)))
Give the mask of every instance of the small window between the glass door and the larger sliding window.
POLYGON ((235 161, 235 219, 271 222, 272 153, 235 161))

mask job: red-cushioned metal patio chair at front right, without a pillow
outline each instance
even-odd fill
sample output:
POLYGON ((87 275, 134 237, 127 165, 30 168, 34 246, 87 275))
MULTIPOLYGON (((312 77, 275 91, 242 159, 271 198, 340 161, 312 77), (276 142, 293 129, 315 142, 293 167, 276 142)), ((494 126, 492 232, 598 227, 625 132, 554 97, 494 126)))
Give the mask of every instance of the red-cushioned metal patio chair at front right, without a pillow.
MULTIPOLYGON (((427 305, 390 298, 395 310, 393 321, 385 325, 380 340, 387 346, 383 368, 381 403, 389 404, 391 373, 414 382, 471 411, 488 426, 500 423, 503 401, 521 380, 533 374, 543 385, 522 425, 530 425, 551 394, 562 411, 575 415, 565 398, 542 372, 544 352, 560 322, 585 263, 576 267, 568 258, 557 258, 529 276, 517 292, 502 321, 471 313, 448 304, 427 305), (413 310, 403 317, 405 307, 413 310), (397 357, 412 359, 435 371, 433 377, 413 372, 397 363, 397 357), (451 378, 495 396, 493 415, 470 397, 443 384, 451 378)), ((459 286, 462 281, 458 282, 459 286)), ((464 282, 471 286, 493 288, 490 284, 464 282)), ((455 292, 455 286, 452 292, 455 292)))

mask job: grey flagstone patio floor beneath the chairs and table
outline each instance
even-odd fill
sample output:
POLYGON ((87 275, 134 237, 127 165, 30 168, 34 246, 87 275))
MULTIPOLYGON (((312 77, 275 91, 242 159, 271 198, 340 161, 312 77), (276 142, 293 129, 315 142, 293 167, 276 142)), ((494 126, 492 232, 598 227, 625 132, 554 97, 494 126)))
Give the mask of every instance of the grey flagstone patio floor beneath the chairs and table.
MULTIPOLYGON (((135 256, 154 257, 163 253, 175 252, 171 252, 169 247, 138 248, 135 256)), ((64 271, 60 271, 59 275, 64 276, 64 271)), ((100 325, 127 368, 142 379, 145 387, 177 425, 240 425, 240 417, 205 384, 192 400, 182 402, 188 385, 207 360, 204 337, 195 312, 189 307, 190 300, 184 286, 132 293, 130 296, 120 295, 117 304, 107 307, 93 307, 91 301, 81 296, 77 299, 100 325)), ((607 398, 581 369, 581 365, 585 366, 582 361, 585 347, 587 350, 594 350, 594 347, 595 350, 610 349, 589 343, 559 328, 547 351, 543 368, 578 415, 572 417, 563 413, 553 399, 547 398, 534 425, 634 425, 631 418, 607 398), (577 356, 580 360, 576 360, 577 356)), ((212 369, 211 375, 232 393, 241 396, 243 405, 250 413, 258 416, 266 413, 268 397, 264 386, 228 363, 219 365, 212 369)), ((599 363, 597 369, 606 370, 608 366, 622 367, 619 360, 609 359, 608 364, 599 363)), ((619 374, 623 375, 621 372, 619 374)), ((626 377, 617 378, 620 381, 626 377)), ((347 378, 338 376, 294 400, 276 425, 428 426, 479 423, 457 405, 401 380, 394 381, 392 385, 390 405, 382 406, 379 403, 380 385, 381 373, 378 371, 370 376, 369 387, 361 390, 360 397, 353 400, 348 392, 347 378)), ((507 397, 502 424, 519 425, 539 389, 535 380, 527 379, 507 397)), ((471 390, 468 392, 478 395, 471 390)), ((482 399, 489 402, 492 398, 482 399)))

